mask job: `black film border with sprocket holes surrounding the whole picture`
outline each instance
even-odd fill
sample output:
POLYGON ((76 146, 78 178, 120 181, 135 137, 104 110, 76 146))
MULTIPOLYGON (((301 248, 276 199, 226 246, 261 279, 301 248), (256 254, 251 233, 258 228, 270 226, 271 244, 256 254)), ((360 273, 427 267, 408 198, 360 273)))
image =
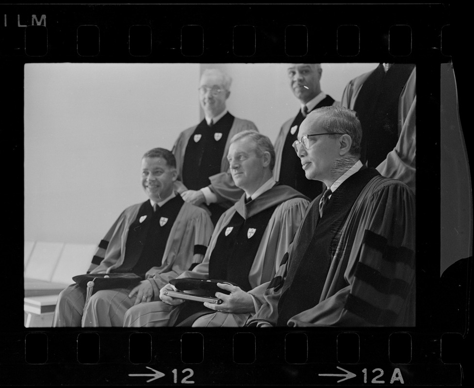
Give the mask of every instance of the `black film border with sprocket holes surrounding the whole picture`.
MULTIPOLYGON (((7 4, 1 9, 0 55, 9 139, 4 166, 24 158, 25 63, 286 63, 296 62, 295 58, 317 63, 415 63, 417 126, 422 128, 417 136, 417 219, 429 217, 417 222, 414 328, 90 330, 24 327, 18 280, 23 224, 15 216, 14 227, 9 227, 13 233, 5 239, 5 259, 10 263, 2 274, 7 291, 1 384, 461 385, 469 381, 470 371, 463 367, 467 359, 461 353, 469 343, 472 258, 457 260, 440 278, 441 196, 439 184, 433 183, 441 176, 440 67, 454 64, 463 48, 458 43, 459 31, 465 28, 459 27, 459 10, 450 4, 7 4), (100 30, 97 55, 87 55, 94 54, 93 46, 84 48, 86 55, 78 54, 77 29, 83 25, 100 30), (131 55, 133 25, 149 26, 148 55, 131 55), (199 37, 185 35, 183 26, 202 27, 202 49, 199 37), (235 26, 254 27, 253 53, 244 30, 242 38, 233 34, 235 26), (288 54, 294 54, 292 49, 297 53, 299 43, 285 35, 287 26, 307 28, 305 55, 288 54), (358 51, 351 42, 338 40, 341 26, 358 27, 358 51), (399 39, 390 34, 393 26, 409 26, 410 49, 406 35, 399 39), (394 55, 394 50, 403 55, 394 55), (6 243, 10 241, 14 243, 6 243)), ((454 151, 462 154, 465 149, 454 151)), ((15 186, 20 180, 17 171, 5 175, 5 182, 15 186)), ((11 193, 7 200, 21 214, 21 195, 15 187, 7 191, 11 193)))

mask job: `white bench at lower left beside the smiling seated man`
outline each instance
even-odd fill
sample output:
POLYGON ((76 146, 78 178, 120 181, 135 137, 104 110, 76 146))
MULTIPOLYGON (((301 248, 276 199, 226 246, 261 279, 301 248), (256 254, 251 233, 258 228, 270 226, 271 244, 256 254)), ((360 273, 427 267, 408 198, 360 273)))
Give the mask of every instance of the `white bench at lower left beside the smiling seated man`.
POLYGON ((58 294, 85 274, 95 244, 25 242, 25 327, 51 326, 58 294), (31 249, 31 251, 30 251, 31 249))

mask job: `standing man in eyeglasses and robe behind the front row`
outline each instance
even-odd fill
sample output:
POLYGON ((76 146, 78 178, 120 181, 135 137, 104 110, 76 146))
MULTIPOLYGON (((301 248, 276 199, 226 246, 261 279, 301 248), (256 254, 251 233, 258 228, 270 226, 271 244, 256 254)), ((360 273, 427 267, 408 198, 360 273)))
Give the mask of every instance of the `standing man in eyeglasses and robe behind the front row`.
POLYGON ((229 174, 229 141, 243 130, 257 130, 254 123, 234 117, 227 110, 231 81, 223 71, 204 70, 198 93, 205 118, 181 132, 173 146, 179 173, 178 192, 193 205, 205 203, 214 225, 243 193, 229 174))

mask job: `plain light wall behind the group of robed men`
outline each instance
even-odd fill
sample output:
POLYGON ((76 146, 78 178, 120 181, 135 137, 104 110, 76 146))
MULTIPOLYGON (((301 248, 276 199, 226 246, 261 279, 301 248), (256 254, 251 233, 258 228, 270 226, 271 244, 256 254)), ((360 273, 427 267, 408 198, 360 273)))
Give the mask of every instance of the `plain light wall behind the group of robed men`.
MULTIPOLYGON (((321 86, 340 100, 352 78, 377 64, 323 64, 321 86)), ((232 77, 229 111, 275 141, 299 101, 287 64, 25 65, 25 240, 98 243, 127 206, 147 199, 140 160, 171 149, 203 117, 205 68, 232 77)))

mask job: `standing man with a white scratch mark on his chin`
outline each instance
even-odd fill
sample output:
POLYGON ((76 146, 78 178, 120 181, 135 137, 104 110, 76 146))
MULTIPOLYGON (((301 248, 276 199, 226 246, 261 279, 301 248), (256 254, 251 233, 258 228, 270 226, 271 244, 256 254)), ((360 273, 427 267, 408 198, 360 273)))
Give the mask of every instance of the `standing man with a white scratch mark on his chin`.
POLYGON ((321 91, 320 64, 288 64, 288 78, 294 96, 299 99, 301 108, 296 117, 286 121, 280 129, 275 152, 277 161, 274 177, 282 185, 288 185, 314 199, 321 194, 322 184, 319 181, 306 179, 301 169, 299 158, 295 155, 292 144, 298 137, 300 124, 309 112, 323 106, 334 104, 334 98, 321 91))

